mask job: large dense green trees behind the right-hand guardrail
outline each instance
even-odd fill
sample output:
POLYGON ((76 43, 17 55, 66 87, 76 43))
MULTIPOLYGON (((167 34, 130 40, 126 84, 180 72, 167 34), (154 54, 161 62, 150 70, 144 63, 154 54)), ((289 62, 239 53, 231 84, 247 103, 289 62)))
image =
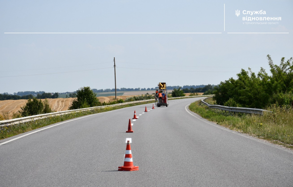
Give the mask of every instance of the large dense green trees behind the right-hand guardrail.
POLYGON ((273 63, 267 56, 270 72, 261 68, 258 74, 241 70, 237 79, 230 78, 215 87, 214 100, 218 105, 265 109, 272 105, 280 107, 293 106, 293 58, 280 65, 273 63))

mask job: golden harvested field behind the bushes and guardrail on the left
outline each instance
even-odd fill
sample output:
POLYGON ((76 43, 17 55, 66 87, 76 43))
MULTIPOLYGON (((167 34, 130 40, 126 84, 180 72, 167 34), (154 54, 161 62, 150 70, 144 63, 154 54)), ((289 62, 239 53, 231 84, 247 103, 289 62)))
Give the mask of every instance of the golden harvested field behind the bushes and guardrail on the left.
MULTIPOLYGON (((123 99, 125 100, 127 97, 131 97, 134 95, 122 95, 117 96, 117 99, 123 99)), ((59 111, 67 111, 69 106, 72 104, 72 101, 76 98, 57 98, 57 99, 47 99, 49 102, 49 105, 53 111, 59 112, 59 111)), ((107 97, 98 97, 100 102, 110 102, 114 101, 115 96, 107 96, 107 97)), ((44 101, 45 99, 41 99, 44 101)), ((26 104, 26 99, 20 99, 20 100, 4 100, 0 101, 0 115, 5 113, 9 115, 9 119, 11 119, 13 113, 18 113, 18 111, 21 111, 21 107, 23 107, 26 104)))

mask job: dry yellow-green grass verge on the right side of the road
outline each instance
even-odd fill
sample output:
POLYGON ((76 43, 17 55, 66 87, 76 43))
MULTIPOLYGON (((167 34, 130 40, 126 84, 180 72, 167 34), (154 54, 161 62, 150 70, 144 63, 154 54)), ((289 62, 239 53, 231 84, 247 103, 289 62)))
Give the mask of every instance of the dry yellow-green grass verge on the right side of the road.
MULTIPOLYGON (((211 98, 206 102, 214 104, 211 98)), ((189 110, 233 131, 267 140, 293 150, 293 109, 272 107, 263 115, 231 113, 217 109, 209 109, 201 101, 189 105, 189 110)))

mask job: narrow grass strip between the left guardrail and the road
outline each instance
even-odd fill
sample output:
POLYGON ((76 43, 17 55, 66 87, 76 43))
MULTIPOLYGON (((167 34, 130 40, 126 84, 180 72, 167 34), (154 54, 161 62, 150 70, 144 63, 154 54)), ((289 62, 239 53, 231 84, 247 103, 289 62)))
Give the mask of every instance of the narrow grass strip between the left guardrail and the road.
POLYGON ((64 114, 64 115, 53 115, 53 116, 50 116, 47 118, 37 119, 37 120, 25 122, 25 123, 19 123, 19 124, 9 125, 9 126, 2 126, 2 127, 0 127, 0 140, 21 134, 23 132, 32 131, 32 130, 35 130, 35 129, 38 129, 41 127, 45 127, 47 125, 51 125, 54 123, 73 119, 76 117, 81 117, 84 115, 113 111, 113 110, 117 110, 117 109, 132 107, 132 106, 136 106, 136 105, 143 105, 143 104, 153 103, 153 102, 154 101, 148 101, 148 102, 144 102, 144 103, 133 103, 133 104, 127 104, 127 105, 122 105, 122 106, 105 107, 102 109, 97 108, 97 109, 93 109, 91 111, 74 112, 74 113, 68 113, 68 114, 64 114))

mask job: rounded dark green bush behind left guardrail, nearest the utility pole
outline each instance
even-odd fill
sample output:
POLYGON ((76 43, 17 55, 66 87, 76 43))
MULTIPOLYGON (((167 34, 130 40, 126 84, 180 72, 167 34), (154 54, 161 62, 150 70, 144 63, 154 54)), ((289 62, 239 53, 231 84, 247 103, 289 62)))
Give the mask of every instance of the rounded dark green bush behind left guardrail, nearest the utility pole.
POLYGON ((72 102, 69 110, 100 106, 101 102, 90 87, 83 87, 76 91, 77 99, 72 102))

